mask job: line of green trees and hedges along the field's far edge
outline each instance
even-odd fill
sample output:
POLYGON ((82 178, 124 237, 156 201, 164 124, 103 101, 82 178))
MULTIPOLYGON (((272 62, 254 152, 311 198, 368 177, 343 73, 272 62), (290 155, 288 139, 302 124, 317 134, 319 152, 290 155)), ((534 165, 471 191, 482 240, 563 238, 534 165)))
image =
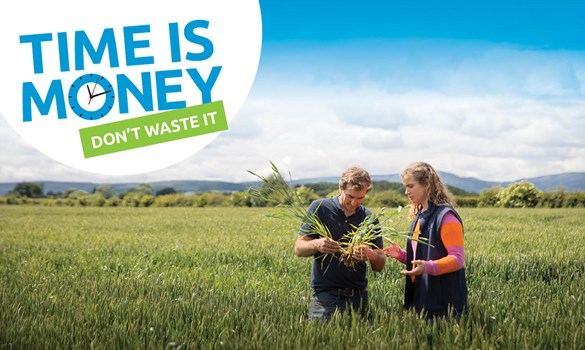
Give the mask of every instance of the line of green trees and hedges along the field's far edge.
MULTIPOLYGON (((99 207, 267 207, 271 203, 243 192, 180 193, 172 187, 153 191, 150 184, 140 184, 126 192, 118 193, 110 185, 98 185, 91 192, 71 188, 64 192, 45 193, 43 184, 21 182, 6 195, 0 204, 36 204, 47 206, 99 206, 99 207)), ((519 181, 507 187, 495 186, 477 194, 448 186, 459 207, 504 208, 575 208, 585 207, 585 192, 566 192, 558 188, 543 192, 528 181, 519 181)), ((312 183, 295 186, 299 196, 308 205, 319 198, 338 194, 337 184, 312 183)), ((268 191, 263 184, 259 190, 268 191)), ((398 207, 408 204, 404 187, 400 183, 375 181, 372 191, 364 200, 370 207, 398 207)))

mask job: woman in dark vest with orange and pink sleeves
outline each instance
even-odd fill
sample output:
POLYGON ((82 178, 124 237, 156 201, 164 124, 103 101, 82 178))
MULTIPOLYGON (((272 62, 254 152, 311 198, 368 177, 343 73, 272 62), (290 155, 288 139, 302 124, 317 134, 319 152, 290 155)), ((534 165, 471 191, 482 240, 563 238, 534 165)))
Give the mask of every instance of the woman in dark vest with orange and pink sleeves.
POLYGON ((412 203, 411 238, 406 250, 396 243, 384 253, 406 269, 404 307, 429 318, 461 315, 467 307, 463 223, 451 194, 433 167, 416 162, 401 174, 412 203))

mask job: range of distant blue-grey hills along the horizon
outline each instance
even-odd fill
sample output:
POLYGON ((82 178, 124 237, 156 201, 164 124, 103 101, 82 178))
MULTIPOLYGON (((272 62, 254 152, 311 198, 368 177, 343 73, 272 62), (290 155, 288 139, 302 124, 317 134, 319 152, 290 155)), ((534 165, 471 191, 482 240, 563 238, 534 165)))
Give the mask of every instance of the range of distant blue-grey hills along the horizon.
MULTIPOLYGON (((451 186, 463 189, 468 192, 481 193, 483 190, 492 188, 494 186, 506 187, 511 183, 518 182, 520 180, 526 180, 534 184, 541 191, 554 192, 560 187, 564 187, 566 192, 585 191, 585 173, 564 173, 558 175, 547 175, 528 179, 519 179, 516 181, 509 182, 495 182, 495 181, 484 181, 470 177, 459 177, 457 175, 439 172, 439 175, 443 181, 451 186)), ((398 174, 391 175, 373 175, 374 181, 388 181, 388 182, 401 182, 398 174)), ((336 183, 339 179, 337 177, 319 177, 319 178, 307 178, 292 181, 293 184, 307 184, 307 183, 318 183, 318 182, 330 182, 336 183)), ((53 192, 59 193, 64 192, 68 189, 75 188, 84 190, 86 192, 92 192, 99 183, 91 182, 58 182, 58 181, 30 181, 34 183, 41 183, 45 193, 53 192)), ((0 195, 4 195, 14 189, 16 182, 5 182, 0 183, 0 195)), ((151 182, 154 192, 172 187, 177 192, 241 192, 246 191, 251 186, 257 186, 258 182, 225 182, 225 181, 200 181, 200 180, 178 180, 178 181, 159 181, 151 182)), ((131 188, 136 188, 140 183, 114 183, 108 184, 112 186, 114 191, 123 193, 131 188)))

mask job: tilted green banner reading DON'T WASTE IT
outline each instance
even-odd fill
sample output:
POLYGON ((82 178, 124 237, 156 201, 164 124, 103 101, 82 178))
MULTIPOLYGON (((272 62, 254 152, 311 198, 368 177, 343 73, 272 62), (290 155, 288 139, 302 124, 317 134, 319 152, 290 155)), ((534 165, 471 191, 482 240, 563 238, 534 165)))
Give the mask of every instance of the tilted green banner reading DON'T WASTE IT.
POLYGON ((223 101, 79 129, 85 158, 227 130, 223 101))

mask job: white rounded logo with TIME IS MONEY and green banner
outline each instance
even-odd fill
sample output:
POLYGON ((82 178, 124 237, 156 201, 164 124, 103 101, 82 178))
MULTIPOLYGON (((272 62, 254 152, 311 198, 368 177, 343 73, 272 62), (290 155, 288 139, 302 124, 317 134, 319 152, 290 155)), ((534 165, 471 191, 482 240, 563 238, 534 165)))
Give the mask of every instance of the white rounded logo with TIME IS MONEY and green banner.
POLYGON ((38 150, 138 174, 229 129, 258 68, 258 0, 59 5, 68 10, 35 0, 0 13, 0 113, 38 150))

